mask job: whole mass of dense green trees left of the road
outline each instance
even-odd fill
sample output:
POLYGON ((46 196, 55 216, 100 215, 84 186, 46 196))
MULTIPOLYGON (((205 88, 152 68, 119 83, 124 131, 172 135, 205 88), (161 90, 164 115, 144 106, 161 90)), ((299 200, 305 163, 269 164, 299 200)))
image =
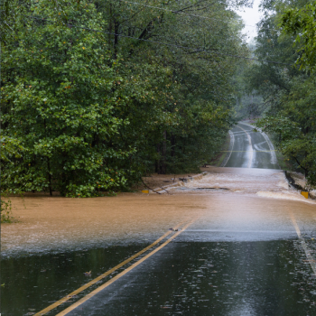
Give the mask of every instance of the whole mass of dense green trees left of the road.
POLYGON ((3 190, 95 196, 196 171, 218 151, 239 62, 225 53, 246 52, 236 4, 7 3, 3 190))

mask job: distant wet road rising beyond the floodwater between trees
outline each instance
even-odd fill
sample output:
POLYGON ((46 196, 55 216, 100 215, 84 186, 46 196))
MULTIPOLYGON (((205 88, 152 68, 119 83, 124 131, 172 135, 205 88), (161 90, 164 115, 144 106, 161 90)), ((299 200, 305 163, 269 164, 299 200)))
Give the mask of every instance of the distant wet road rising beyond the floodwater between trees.
POLYGON ((274 146, 265 133, 238 123, 230 133, 231 153, 225 167, 280 169, 274 146))

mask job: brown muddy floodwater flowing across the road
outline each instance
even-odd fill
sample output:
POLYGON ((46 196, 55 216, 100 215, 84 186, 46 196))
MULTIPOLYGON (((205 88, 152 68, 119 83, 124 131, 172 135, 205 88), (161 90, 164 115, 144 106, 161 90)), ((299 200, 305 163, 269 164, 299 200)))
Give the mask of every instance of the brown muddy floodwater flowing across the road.
POLYGON ((199 214, 205 220, 219 218, 226 226, 235 225, 244 216, 265 221, 271 218, 281 228, 289 225, 293 228, 288 223, 289 211, 299 212, 306 223, 314 217, 316 202, 289 188, 283 172, 243 168, 207 170, 209 174, 199 181, 166 187, 170 194, 162 191, 161 195, 122 193, 92 199, 11 198, 14 217, 20 222, 2 225, 3 256, 79 249, 100 243, 124 245, 131 239, 143 243, 161 236, 182 219, 199 214))

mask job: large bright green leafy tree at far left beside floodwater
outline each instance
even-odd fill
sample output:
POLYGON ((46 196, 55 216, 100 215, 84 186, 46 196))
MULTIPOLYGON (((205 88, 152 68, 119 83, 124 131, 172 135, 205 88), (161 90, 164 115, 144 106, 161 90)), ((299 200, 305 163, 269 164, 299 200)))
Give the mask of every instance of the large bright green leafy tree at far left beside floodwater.
MULTIPOLYGON (((80 5, 85 14, 70 7, 65 24, 76 19, 98 28, 103 21, 94 6, 80 5)), ((15 33, 13 47, 4 47, 3 134, 16 138, 24 151, 5 163, 3 186, 54 188, 70 196, 113 190, 126 180, 110 162, 134 152, 123 152, 110 140, 118 126, 128 124, 112 116, 126 101, 117 88, 116 61, 102 48, 102 33, 36 19, 52 10, 52 4, 33 6, 34 19, 15 33)))

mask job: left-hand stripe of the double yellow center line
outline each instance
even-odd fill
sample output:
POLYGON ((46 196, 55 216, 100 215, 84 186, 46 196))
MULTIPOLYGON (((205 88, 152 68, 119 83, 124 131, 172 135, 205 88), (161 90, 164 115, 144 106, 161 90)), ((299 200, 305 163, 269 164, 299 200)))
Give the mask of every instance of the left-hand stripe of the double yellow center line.
MULTIPOLYGON (((182 220, 177 226, 174 227, 174 229, 179 228, 181 226, 181 224, 183 222, 185 222, 186 220, 182 220)), ((57 302, 52 303, 50 306, 46 307, 45 309, 43 309, 42 311, 38 311, 36 314, 34 314, 33 316, 40 316, 40 315, 44 315, 47 312, 55 309, 56 307, 60 306, 60 304, 62 304, 63 302, 66 302, 68 300, 70 300, 70 298, 74 295, 77 295, 78 293, 88 289, 89 286, 97 283, 98 281, 104 279, 108 274, 112 274, 113 272, 115 272, 117 269, 119 269, 120 267, 122 267, 123 265, 128 264, 129 262, 131 262, 132 260, 134 260, 137 256, 140 256, 142 254, 144 254, 144 252, 146 252, 147 250, 149 250, 150 248, 152 248, 153 246, 156 246, 160 241, 162 241, 165 237, 167 237, 168 235, 170 235, 172 233, 172 231, 167 231, 162 237, 158 238, 156 241, 153 242, 152 245, 146 246, 143 250, 141 250, 140 252, 138 252, 137 254, 135 254, 134 256, 129 257, 128 259, 126 259, 125 261, 121 262, 119 265, 116 265, 114 268, 108 270, 106 273, 99 275, 97 278, 95 278, 94 280, 91 280, 90 282, 82 285, 81 287, 79 287, 79 289, 71 292, 70 294, 68 294, 67 296, 63 297, 62 299, 60 299, 57 302)))

